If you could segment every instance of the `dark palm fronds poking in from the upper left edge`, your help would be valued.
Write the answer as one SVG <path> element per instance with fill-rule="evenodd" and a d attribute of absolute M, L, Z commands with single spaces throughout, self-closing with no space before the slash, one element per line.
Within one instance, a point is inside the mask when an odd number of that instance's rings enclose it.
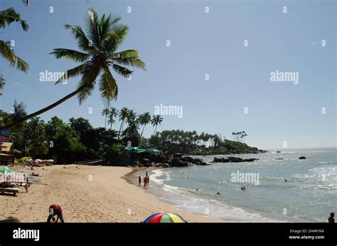
<path fill-rule="evenodd" d="M 14 22 L 19 22 L 23 31 L 28 31 L 28 23 L 21 19 L 20 14 L 16 13 L 14 8 L 8 8 L 0 11 L 0 28 L 6 28 Z M 9 61 L 9 64 L 12 67 L 16 65 L 18 70 L 21 70 L 24 73 L 28 72 L 28 63 L 16 56 L 13 48 L 11 47 L 11 42 L 0 39 L 0 54 L 3 58 Z"/>

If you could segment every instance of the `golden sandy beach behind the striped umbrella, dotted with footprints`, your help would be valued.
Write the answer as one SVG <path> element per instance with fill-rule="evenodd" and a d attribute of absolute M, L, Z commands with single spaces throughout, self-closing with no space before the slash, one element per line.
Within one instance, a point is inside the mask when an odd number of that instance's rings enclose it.
<path fill-rule="evenodd" d="M 139 223 L 152 213 L 179 213 L 188 222 L 221 222 L 202 215 L 186 213 L 163 203 L 122 178 L 132 169 L 114 166 L 63 165 L 35 167 L 41 183 L 33 183 L 28 193 L 0 195 L 0 222 L 46 222 L 48 208 L 59 204 L 65 222 Z M 11 167 L 26 171 L 26 167 Z M 151 188 L 150 186 L 147 188 Z"/>

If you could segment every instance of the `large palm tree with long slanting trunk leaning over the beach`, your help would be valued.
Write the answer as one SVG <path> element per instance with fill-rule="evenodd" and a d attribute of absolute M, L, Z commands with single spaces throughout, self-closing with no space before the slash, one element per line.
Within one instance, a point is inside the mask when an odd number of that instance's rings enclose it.
<path fill-rule="evenodd" d="M 73 33 L 81 51 L 70 50 L 68 48 L 55 48 L 51 54 L 55 55 L 56 58 L 65 58 L 82 63 L 68 70 L 67 73 L 58 80 L 58 82 L 61 82 L 65 80 L 66 77 L 70 78 L 80 75 L 81 78 L 77 84 L 77 89 L 57 102 L 54 102 L 52 105 L 38 110 L 33 114 L 28 114 L 17 122 L 0 127 L 0 129 L 12 127 L 27 119 L 36 117 L 36 115 L 53 109 L 53 107 L 60 105 L 75 95 L 77 95 L 81 105 L 82 102 L 91 95 L 98 77 L 100 77 L 99 90 L 101 96 L 107 100 L 117 100 L 117 82 L 109 68 L 112 68 L 115 73 L 123 77 L 129 77 L 133 72 L 125 68 L 124 65 L 145 70 L 145 63 L 140 59 L 137 50 L 117 51 L 129 31 L 127 26 L 118 23 L 119 20 L 120 18 L 112 18 L 111 14 L 109 16 L 103 14 L 103 16 L 99 18 L 97 13 L 93 9 L 90 9 L 85 18 L 85 31 L 83 31 L 80 26 L 65 25 L 65 28 L 70 29 Z M 56 84 L 58 84 L 58 82 L 56 82 Z"/>

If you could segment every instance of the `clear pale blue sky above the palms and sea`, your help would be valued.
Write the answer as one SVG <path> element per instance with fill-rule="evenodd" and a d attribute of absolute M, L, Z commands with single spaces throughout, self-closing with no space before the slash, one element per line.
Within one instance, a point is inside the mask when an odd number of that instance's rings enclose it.
<path fill-rule="evenodd" d="M 80 77 L 54 85 L 41 82 L 40 73 L 78 65 L 48 53 L 53 48 L 78 50 L 64 25 L 84 26 L 87 10 L 93 8 L 100 16 L 122 18 L 129 34 L 120 50 L 138 50 L 147 68 L 132 69 L 132 80 L 114 74 L 119 95 L 112 107 L 138 114 L 154 114 L 161 104 L 182 107 L 181 117 L 163 115 L 157 130 L 196 130 L 227 139 L 245 131 L 246 143 L 260 149 L 336 146 L 336 1 L 0 2 L 0 9 L 11 6 L 30 29 L 24 32 L 13 23 L 1 30 L 0 38 L 15 41 L 16 54 L 30 70 L 22 73 L 0 58 L 6 79 L 0 109 L 6 112 L 14 100 L 31 113 L 75 90 Z M 271 81 L 277 70 L 299 80 Z M 73 97 L 41 119 L 84 117 L 104 127 L 104 108 L 95 89 L 82 105 Z M 144 137 L 153 131 L 146 126 Z"/>

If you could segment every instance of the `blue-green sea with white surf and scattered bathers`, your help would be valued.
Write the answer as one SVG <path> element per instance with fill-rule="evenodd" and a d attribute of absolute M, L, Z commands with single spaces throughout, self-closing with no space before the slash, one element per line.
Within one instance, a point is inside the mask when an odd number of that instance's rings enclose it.
<path fill-rule="evenodd" d="M 260 159 L 254 162 L 156 169 L 148 192 L 226 222 L 326 222 L 337 212 L 337 148 L 276 151 L 217 156 Z M 198 157 L 209 163 L 215 156 Z"/>

